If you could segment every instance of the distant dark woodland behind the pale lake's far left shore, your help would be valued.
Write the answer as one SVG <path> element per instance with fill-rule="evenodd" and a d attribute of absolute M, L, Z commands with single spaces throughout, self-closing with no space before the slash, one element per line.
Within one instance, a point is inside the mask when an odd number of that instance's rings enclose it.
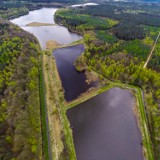
<path fill-rule="evenodd" d="M 28 14 L 29 11 L 43 7 L 63 7 L 72 3 L 80 3 L 73 0 L 2 0 L 0 1 L 0 17 L 13 19 Z"/>

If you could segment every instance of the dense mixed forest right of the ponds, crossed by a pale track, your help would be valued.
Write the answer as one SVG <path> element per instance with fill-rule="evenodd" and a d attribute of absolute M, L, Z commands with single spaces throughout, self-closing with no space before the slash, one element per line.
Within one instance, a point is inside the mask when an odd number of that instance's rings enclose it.
<path fill-rule="evenodd" d="M 154 5 L 107 2 L 59 10 L 55 18 L 57 23 L 84 35 L 82 60 L 88 70 L 143 90 L 156 160 L 160 159 L 160 40 L 147 68 L 143 66 L 160 31 L 158 15 Z"/>

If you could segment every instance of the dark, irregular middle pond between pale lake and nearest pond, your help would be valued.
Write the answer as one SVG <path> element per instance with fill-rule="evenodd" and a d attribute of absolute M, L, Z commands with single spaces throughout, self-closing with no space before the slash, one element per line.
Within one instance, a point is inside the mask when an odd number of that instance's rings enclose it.
<path fill-rule="evenodd" d="M 65 90 L 65 99 L 71 101 L 87 91 L 95 83 L 87 84 L 84 73 L 76 71 L 74 61 L 84 51 L 82 44 L 54 50 L 53 55 Z"/>

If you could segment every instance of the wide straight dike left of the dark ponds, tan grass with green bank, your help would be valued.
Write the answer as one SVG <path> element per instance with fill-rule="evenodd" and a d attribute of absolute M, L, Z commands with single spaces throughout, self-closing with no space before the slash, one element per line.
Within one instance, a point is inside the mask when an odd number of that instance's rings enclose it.
<path fill-rule="evenodd" d="M 43 74 L 52 159 L 76 159 L 72 133 L 66 117 L 64 92 L 55 60 L 50 54 L 43 54 Z"/>

